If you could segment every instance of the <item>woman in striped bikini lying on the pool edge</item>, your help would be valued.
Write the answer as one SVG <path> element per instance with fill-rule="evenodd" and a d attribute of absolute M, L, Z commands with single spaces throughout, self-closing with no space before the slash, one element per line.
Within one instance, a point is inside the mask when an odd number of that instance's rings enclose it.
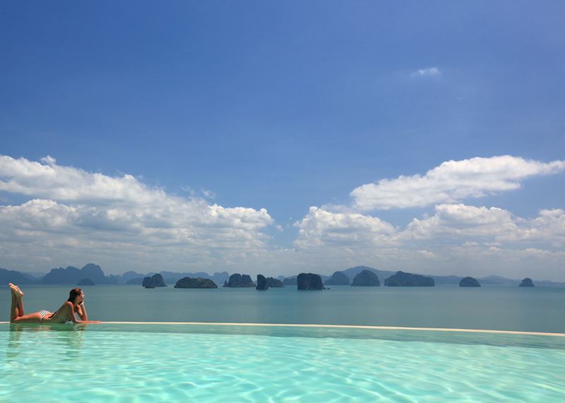
<path fill-rule="evenodd" d="M 100 321 L 97 320 L 88 320 L 84 306 L 84 293 L 80 288 L 71 289 L 69 299 L 54 313 L 39 311 L 25 315 L 22 302 L 23 292 L 17 285 L 12 283 L 8 285 L 12 291 L 11 323 L 100 323 Z M 77 320 L 75 313 L 81 320 Z"/>

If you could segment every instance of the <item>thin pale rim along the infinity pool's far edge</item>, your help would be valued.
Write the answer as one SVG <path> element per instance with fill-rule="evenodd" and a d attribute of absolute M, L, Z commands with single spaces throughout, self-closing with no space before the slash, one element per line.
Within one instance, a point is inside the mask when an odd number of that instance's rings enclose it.
<path fill-rule="evenodd" d="M 10 322 L 0 322 L 0 325 Z M 45 323 L 44 323 L 45 324 Z M 552 336 L 565 337 L 565 333 L 557 332 L 528 332 L 522 330 L 491 330 L 491 329 L 453 329 L 448 327 L 405 327 L 405 326 L 372 326 L 372 325 L 316 325 L 314 323 L 230 323 L 230 322 L 102 322 L 102 325 L 207 325 L 207 326 L 251 326 L 251 327 L 323 327 L 330 329 L 365 329 L 365 330 L 408 330 L 423 332 L 463 332 L 489 333 L 498 335 Z"/>

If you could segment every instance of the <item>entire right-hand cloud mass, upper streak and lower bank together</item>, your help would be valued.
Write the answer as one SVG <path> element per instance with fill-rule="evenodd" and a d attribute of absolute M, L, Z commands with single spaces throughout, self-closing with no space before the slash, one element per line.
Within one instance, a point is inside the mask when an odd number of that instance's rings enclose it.
<path fill-rule="evenodd" d="M 295 223 L 295 246 L 299 255 L 333 267 L 364 262 L 430 274 L 523 273 L 565 280 L 559 260 L 565 247 L 564 210 L 518 217 L 500 207 L 460 203 L 518 189 L 525 179 L 564 169 L 564 161 L 504 155 L 448 161 L 423 175 L 383 179 L 352 191 L 350 205 L 310 207 Z M 434 205 L 432 214 L 415 217 L 403 228 L 369 214 L 427 205 Z M 539 272 L 532 271 L 534 266 Z"/>

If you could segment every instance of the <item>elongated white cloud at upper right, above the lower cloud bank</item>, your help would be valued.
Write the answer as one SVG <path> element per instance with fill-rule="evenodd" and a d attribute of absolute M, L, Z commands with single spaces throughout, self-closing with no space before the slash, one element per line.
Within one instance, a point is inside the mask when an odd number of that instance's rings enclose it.
<path fill-rule="evenodd" d="M 350 196 L 353 207 L 362 211 L 457 203 L 465 198 L 518 189 L 524 179 L 556 174 L 564 169 L 565 161 L 546 163 L 511 155 L 451 160 L 424 175 L 398 176 L 364 184 L 355 188 Z"/>

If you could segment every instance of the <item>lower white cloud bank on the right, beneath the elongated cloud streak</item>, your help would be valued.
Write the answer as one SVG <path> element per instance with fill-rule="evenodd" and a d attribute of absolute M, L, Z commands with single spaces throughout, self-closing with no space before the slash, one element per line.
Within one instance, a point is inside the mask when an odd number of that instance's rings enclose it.
<path fill-rule="evenodd" d="M 310 207 L 295 223 L 303 260 L 335 270 L 361 263 L 436 275 L 506 275 L 565 281 L 565 211 L 533 219 L 499 207 L 438 205 L 398 229 L 379 217 Z"/>

